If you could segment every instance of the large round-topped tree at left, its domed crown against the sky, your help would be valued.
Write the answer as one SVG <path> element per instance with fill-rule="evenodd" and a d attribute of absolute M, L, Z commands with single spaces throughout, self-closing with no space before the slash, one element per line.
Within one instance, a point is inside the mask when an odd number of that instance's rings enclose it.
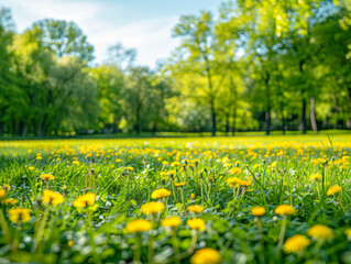
<path fill-rule="evenodd" d="M 57 132 L 67 120 L 64 116 L 67 113 L 91 113 L 89 117 L 92 119 L 96 116 L 96 99 L 86 97 L 87 94 L 95 94 L 95 86 L 84 72 L 88 59 L 91 59 L 92 50 L 84 40 L 80 30 L 74 24 L 53 20 L 36 22 L 17 36 L 13 69 L 21 80 L 26 101 L 21 121 L 23 135 L 29 128 L 39 136 L 51 129 Z M 87 100 L 91 102 L 90 106 L 86 103 Z M 87 125 L 81 117 L 79 121 L 73 122 L 77 125 L 64 127 L 81 129 Z"/>

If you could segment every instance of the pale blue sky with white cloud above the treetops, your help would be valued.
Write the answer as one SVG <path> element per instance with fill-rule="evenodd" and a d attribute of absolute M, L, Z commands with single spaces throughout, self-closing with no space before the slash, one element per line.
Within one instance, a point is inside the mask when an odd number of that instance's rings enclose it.
<path fill-rule="evenodd" d="M 107 59 L 109 46 L 121 42 L 136 48 L 136 63 L 154 67 L 179 44 L 172 29 L 182 14 L 217 12 L 222 0 L 1 0 L 11 9 L 18 32 L 35 21 L 74 21 L 95 47 L 96 63 Z"/>

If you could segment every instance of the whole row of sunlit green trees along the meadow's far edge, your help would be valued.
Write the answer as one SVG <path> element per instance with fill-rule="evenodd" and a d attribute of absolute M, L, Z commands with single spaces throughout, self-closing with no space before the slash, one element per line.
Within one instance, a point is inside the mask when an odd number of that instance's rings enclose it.
<path fill-rule="evenodd" d="M 351 7 L 238 0 L 180 16 L 155 69 L 117 44 L 94 64 L 74 22 L 15 32 L 0 9 L 0 134 L 351 128 Z"/>

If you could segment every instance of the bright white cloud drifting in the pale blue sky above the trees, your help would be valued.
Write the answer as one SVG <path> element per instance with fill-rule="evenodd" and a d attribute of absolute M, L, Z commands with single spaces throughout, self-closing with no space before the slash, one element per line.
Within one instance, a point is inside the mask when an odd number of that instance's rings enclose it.
<path fill-rule="evenodd" d="M 102 62 L 107 48 L 117 42 L 138 50 L 138 63 L 154 66 L 157 58 L 165 58 L 178 43 L 171 37 L 177 16 L 158 16 L 146 21 L 118 23 L 109 15 L 123 12 L 122 7 L 101 1 L 68 0 L 2 0 L 12 9 L 20 31 L 34 21 L 45 18 L 75 21 L 95 46 L 97 62 Z M 162 14 L 161 14 L 162 15 Z"/>

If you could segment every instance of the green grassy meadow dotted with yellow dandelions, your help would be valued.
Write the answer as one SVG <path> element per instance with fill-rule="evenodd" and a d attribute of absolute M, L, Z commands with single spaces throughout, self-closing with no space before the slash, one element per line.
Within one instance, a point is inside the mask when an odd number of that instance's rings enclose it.
<path fill-rule="evenodd" d="M 0 263 L 351 263 L 351 135 L 0 141 Z"/>

